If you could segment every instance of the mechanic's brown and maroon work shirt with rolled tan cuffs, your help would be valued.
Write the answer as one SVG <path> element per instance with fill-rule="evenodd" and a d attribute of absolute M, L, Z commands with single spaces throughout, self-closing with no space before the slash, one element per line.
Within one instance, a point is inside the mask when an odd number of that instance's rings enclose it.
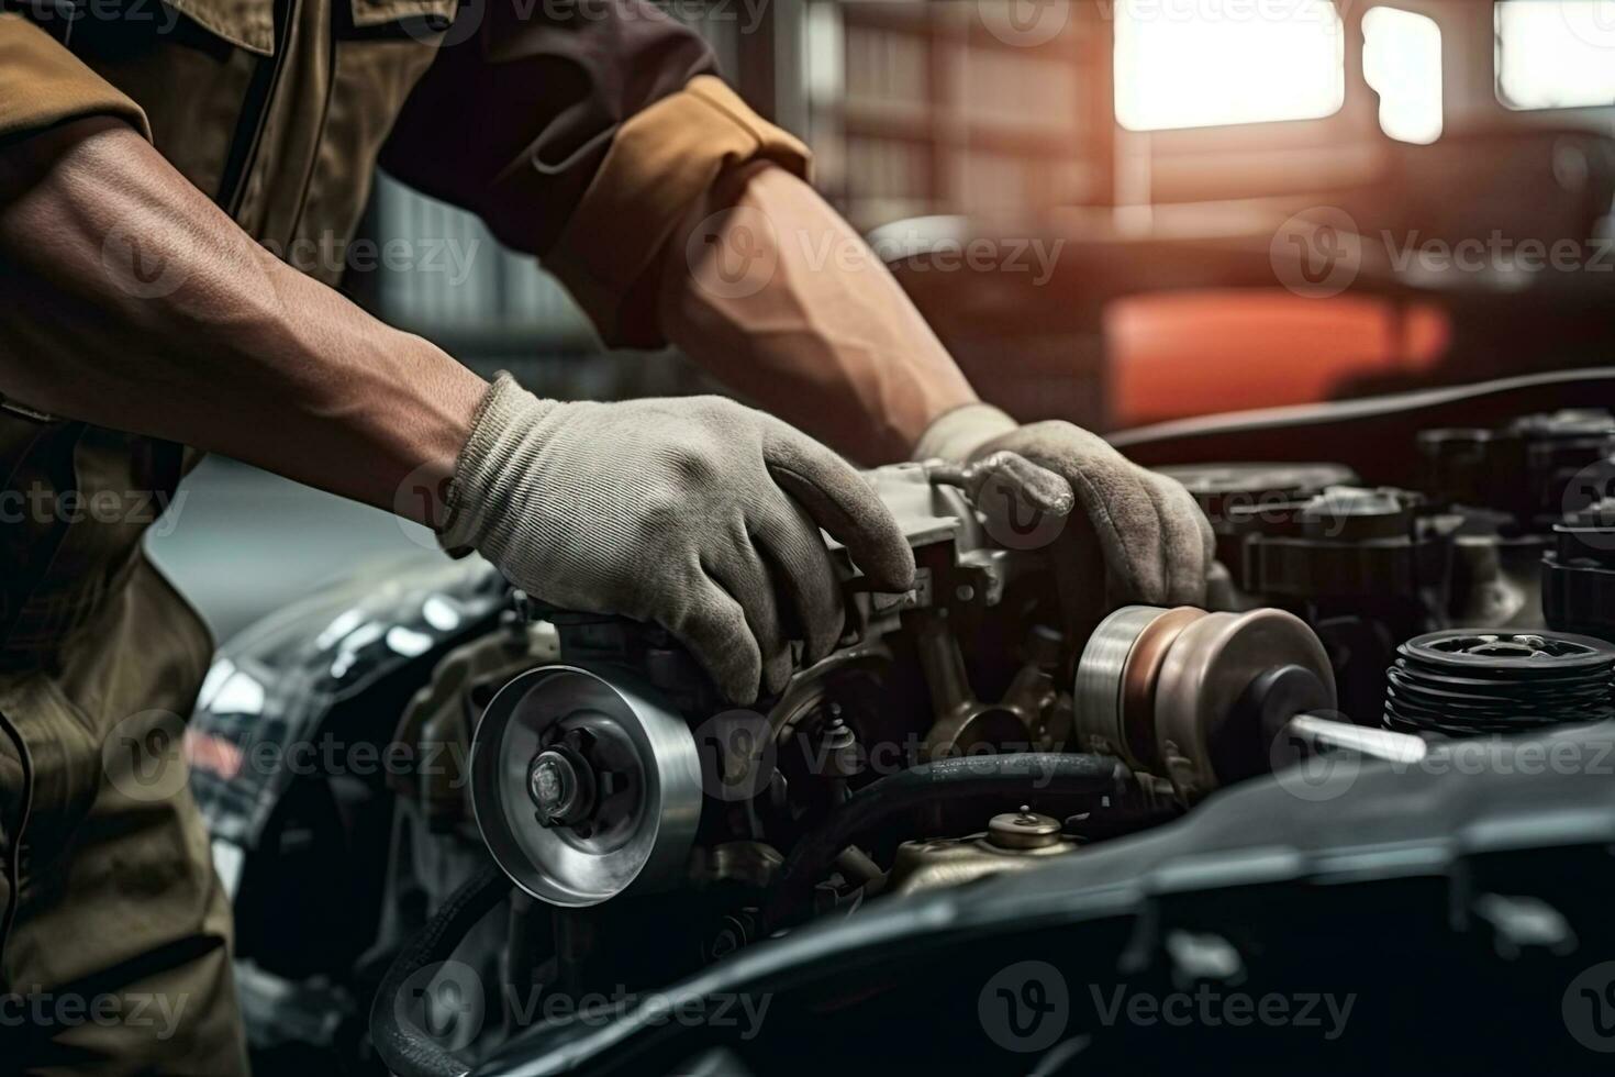
<path fill-rule="evenodd" d="M 706 44 L 641 0 L 15 3 L 0 145 L 121 116 L 249 234 L 326 278 L 342 258 L 297 254 L 346 247 L 380 163 L 538 255 L 610 344 L 661 342 L 648 266 L 720 170 L 806 170 L 801 144 L 714 76 Z M 137 491 L 150 509 L 184 463 L 174 446 L 0 410 L 13 504 Z M 48 654 L 102 607 L 152 513 L 11 515 L 0 665 Z"/>

